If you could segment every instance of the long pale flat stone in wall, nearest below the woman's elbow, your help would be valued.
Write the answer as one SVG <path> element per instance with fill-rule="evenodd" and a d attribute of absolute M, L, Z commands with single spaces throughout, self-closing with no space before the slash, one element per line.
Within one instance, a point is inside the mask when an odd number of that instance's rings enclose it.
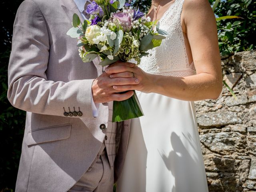
<path fill-rule="evenodd" d="M 206 127 L 238 124 L 241 123 L 242 120 L 237 116 L 236 112 L 218 111 L 198 114 L 197 122 L 199 126 Z"/>

